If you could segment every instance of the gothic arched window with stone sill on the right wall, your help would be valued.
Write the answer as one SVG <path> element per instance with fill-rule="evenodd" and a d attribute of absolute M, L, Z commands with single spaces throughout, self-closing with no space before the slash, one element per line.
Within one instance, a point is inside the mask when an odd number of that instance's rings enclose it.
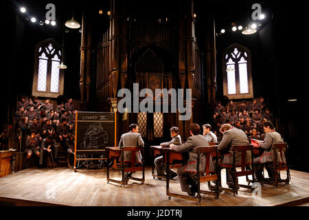
<path fill-rule="evenodd" d="M 223 94 L 229 99 L 253 98 L 251 53 L 242 45 L 233 44 L 222 57 Z"/>

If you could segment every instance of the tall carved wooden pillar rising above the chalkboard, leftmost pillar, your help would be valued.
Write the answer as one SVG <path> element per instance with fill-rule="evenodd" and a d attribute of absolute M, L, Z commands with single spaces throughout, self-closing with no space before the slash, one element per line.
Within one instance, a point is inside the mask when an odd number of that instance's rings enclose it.
<path fill-rule="evenodd" d="M 82 42 L 80 46 L 80 95 L 82 102 L 89 101 L 91 74 L 92 25 L 89 24 L 87 9 L 82 12 Z"/>

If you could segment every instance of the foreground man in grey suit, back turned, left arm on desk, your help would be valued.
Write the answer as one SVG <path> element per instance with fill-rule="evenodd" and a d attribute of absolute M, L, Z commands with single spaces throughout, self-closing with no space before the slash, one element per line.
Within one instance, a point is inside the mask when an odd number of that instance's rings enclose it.
<path fill-rule="evenodd" d="M 179 168 L 177 170 L 177 175 L 179 178 L 179 182 L 181 184 L 181 190 L 183 192 L 187 192 L 187 195 L 195 196 L 197 192 L 197 184 L 196 181 L 198 177 L 196 175 L 196 163 L 198 158 L 198 148 L 197 146 L 209 146 L 206 137 L 200 135 L 201 127 L 198 124 L 191 124 L 190 126 L 190 134 L 192 135 L 187 139 L 185 144 L 174 145 L 170 144 L 170 148 L 173 148 L 177 152 L 188 152 L 189 160 L 185 166 Z M 206 157 L 205 153 L 200 155 L 200 172 L 205 172 L 205 163 Z M 209 160 L 209 170 L 214 170 L 214 164 L 212 163 L 212 159 Z"/>

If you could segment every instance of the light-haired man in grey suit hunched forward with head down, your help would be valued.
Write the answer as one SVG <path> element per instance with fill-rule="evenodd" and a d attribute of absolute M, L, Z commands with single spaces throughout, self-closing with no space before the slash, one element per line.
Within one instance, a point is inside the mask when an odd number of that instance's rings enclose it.
<path fill-rule="evenodd" d="M 227 182 L 233 182 L 231 177 L 231 166 L 233 165 L 233 148 L 231 146 L 247 145 L 249 144 L 248 137 L 244 131 L 231 126 L 231 124 L 222 124 L 220 132 L 223 133 L 222 140 L 218 145 L 218 150 L 222 151 L 220 159 L 221 168 L 227 169 Z M 246 152 L 246 164 L 251 163 L 251 152 Z M 236 166 L 241 164 L 241 153 L 236 152 Z M 237 181 L 237 179 L 236 179 Z M 237 183 L 237 182 L 236 182 Z M 233 186 L 229 186 L 233 187 Z"/>

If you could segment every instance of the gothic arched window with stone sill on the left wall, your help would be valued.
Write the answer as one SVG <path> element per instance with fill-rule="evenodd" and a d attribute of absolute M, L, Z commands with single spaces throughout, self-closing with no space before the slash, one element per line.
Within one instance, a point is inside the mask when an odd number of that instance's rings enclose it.
<path fill-rule="evenodd" d="M 36 45 L 32 96 L 57 98 L 63 95 L 63 70 L 58 68 L 61 58 L 60 45 L 53 39 Z"/>

